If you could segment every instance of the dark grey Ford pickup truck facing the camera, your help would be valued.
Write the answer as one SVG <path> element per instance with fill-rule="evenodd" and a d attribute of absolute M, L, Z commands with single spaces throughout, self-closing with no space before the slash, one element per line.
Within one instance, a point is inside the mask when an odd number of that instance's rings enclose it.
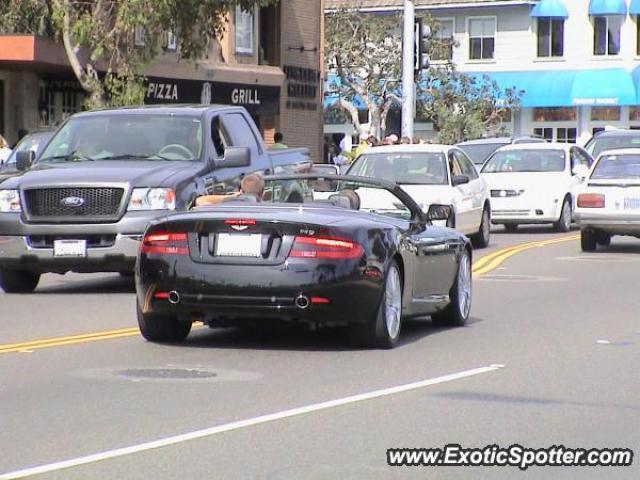
<path fill-rule="evenodd" d="M 139 107 L 69 118 L 0 185 L 0 287 L 31 292 L 47 272 L 133 271 L 149 221 L 243 175 L 310 167 L 307 149 L 268 151 L 246 110 Z M 300 195 L 291 191 L 291 201 Z"/>

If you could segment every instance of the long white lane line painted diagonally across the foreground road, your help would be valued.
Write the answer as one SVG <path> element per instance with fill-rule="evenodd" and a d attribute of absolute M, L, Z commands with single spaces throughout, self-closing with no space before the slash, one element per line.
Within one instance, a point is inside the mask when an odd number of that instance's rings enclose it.
<path fill-rule="evenodd" d="M 283 410 L 281 412 L 271 413 L 268 415 L 262 415 L 259 417 L 248 418 L 246 420 L 239 420 L 237 422 L 225 423 L 217 425 L 215 427 L 205 428 L 203 430 L 196 430 L 193 432 L 183 433 L 181 435 L 175 435 L 172 437 L 166 437 L 151 442 L 140 443 L 138 445 L 131 445 L 129 447 L 117 448 L 115 450 L 108 450 L 102 453 L 95 453 L 93 455 L 87 455 L 84 457 L 73 458 L 69 460 L 63 460 L 61 462 L 49 463 L 46 465 L 40 465 L 37 467 L 25 468 L 23 470 L 16 470 L 14 472 L 8 472 L 0 475 L 0 480 L 9 480 L 16 478 L 25 478 L 32 475 L 38 475 L 41 473 L 49 473 L 65 468 L 77 467 L 80 465 L 87 465 L 90 463 L 100 462 L 111 458 L 124 457 L 134 453 L 140 453 L 156 448 L 167 447 L 169 445 L 176 445 L 178 443 L 188 442 L 199 438 L 211 437 L 220 433 L 230 432 L 233 430 L 239 430 L 241 428 L 252 427 L 263 423 L 274 422 L 276 420 L 283 420 L 285 418 L 296 417 L 299 415 L 305 415 L 308 413 L 319 412 L 321 410 L 327 410 L 330 408 L 340 407 L 351 403 L 362 402 L 365 400 L 373 400 L 375 398 L 386 397 L 389 395 L 395 395 L 397 393 L 408 392 L 411 390 L 417 390 L 424 387 L 430 387 L 432 385 L 439 385 L 442 383 L 453 382 L 455 380 L 461 380 L 463 378 L 473 377 L 476 375 L 482 375 L 484 373 L 490 373 L 496 370 L 504 368 L 501 364 L 492 364 L 487 367 L 473 368 L 471 370 L 464 370 L 462 372 L 452 373 L 444 375 L 442 377 L 430 378 L 427 380 L 421 380 L 418 382 L 407 383 L 404 385 L 398 385 L 396 387 L 383 388 L 381 390 L 374 390 L 372 392 L 360 393 L 357 395 L 351 395 L 349 397 L 338 398 L 335 400 L 329 400 L 326 402 L 314 403 L 306 405 L 304 407 L 292 408 L 290 410 Z"/>

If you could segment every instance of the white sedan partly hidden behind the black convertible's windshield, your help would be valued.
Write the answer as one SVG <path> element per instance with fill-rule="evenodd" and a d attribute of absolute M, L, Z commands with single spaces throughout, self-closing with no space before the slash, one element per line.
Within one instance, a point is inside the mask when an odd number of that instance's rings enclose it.
<path fill-rule="evenodd" d="M 453 213 L 448 226 L 469 235 L 476 247 L 489 244 L 489 190 L 458 147 L 437 144 L 373 147 L 354 161 L 347 174 L 396 182 L 425 212 L 434 203 L 450 205 Z"/>

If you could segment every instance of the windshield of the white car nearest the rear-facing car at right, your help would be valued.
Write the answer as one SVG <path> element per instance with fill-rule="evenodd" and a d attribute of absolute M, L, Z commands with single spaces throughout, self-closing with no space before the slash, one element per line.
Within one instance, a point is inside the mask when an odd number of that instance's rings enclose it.
<path fill-rule="evenodd" d="M 564 169 L 562 150 L 504 150 L 487 160 L 482 173 L 562 172 Z"/>

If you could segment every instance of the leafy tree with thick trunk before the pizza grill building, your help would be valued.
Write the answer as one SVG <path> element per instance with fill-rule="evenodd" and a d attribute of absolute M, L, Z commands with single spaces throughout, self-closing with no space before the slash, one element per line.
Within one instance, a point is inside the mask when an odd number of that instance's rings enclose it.
<path fill-rule="evenodd" d="M 0 28 L 67 39 L 89 106 L 127 105 L 144 99 L 141 73 L 162 51 L 166 32 L 176 35 L 180 58 L 202 58 L 236 5 L 252 9 L 277 1 L 0 0 Z M 136 28 L 144 30 L 144 46 L 134 44 Z"/>

